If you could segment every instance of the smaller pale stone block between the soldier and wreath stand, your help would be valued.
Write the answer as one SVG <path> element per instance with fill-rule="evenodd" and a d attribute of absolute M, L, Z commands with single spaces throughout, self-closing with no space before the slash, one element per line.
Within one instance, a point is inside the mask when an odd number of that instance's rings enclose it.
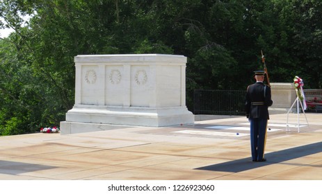
<path fill-rule="evenodd" d="M 274 103 L 269 107 L 270 113 L 287 113 L 296 100 L 293 83 L 271 83 L 271 91 Z"/>

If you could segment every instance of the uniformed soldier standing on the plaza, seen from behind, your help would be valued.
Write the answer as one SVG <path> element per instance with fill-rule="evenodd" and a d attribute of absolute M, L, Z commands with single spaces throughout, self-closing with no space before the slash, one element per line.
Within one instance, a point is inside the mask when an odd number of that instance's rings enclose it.
<path fill-rule="evenodd" d="M 266 161 L 264 158 L 268 107 L 273 105 L 271 87 L 264 85 L 265 71 L 254 71 L 256 83 L 247 87 L 245 110 L 250 121 L 250 147 L 252 161 Z"/>

